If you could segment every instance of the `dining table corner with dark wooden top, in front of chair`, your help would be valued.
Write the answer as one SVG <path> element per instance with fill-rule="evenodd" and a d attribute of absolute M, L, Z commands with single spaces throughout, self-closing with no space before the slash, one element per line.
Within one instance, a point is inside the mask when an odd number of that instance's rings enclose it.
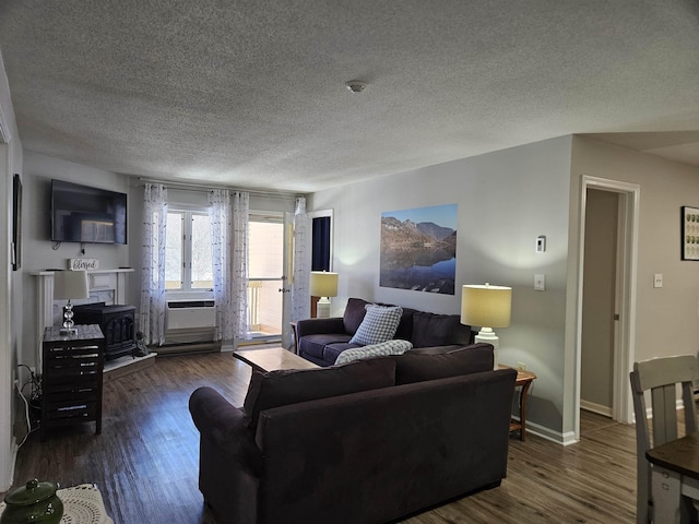
<path fill-rule="evenodd" d="M 699 502 L 699 432 L 652 448 L 645 457 L 653 465 L 653 522 L 689 523 Z"/>

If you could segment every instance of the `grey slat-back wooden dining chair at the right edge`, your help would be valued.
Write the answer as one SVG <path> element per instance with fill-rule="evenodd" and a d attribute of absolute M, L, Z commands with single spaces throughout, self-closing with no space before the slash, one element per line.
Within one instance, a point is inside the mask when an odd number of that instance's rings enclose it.
<path fill-rule="evenodd" d="M 651 464 L 645 452 L 651 446 L 677 439 L 677 384 L 682 384 L 685 434 L 697 430 L 692 382 L 699 379 L 699 361 L 694 355 L 659 357 L 633 364 L 630 373 L 636 415 L 637 503 L 636 522 L 652 522 Z M 644 392 L 651 396 L 652 440 L 649 434 Z M 657 523 L 660 524 L 660 523 Z"/>

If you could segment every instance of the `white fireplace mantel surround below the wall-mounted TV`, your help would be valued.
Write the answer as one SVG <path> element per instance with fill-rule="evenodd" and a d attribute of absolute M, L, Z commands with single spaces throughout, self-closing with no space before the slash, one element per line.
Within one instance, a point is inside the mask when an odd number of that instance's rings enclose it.
<path fill-rule="evenodd" d="M 125 303 L 127 298 L 127 276 L 133 269 L 123 267 L 118 270 L 90 270 L 87 271 L 87 283 L 91 295 L 99 295 L 98 301 L 107 305 Z M 38 355 L 42 355 L 42 340 L 44 329 L 54 325 L 54 272 L 40 271 L 34 273 L 38 278 L 37 300 L 36 300 L 36 340 L 38 342 Z M 106 299 L 102 299 L 102 294 L 107 294 Z M 94 302 L 94 299 L 74 300 L 75 305 Z"/>

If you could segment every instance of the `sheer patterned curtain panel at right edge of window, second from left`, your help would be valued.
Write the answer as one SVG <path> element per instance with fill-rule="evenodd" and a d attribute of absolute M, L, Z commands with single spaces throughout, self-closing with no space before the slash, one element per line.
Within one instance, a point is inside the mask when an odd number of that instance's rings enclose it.
<path fill-rule="evenodd" d="M 233 217 L 230 193 L 216 189 L 209 193 L 209 216 L 211 218 L 211 243 L 214 273 L 214 301 L 216 303 L 215 340 L 233 341 L 234 279 L 233 279 Z"/>

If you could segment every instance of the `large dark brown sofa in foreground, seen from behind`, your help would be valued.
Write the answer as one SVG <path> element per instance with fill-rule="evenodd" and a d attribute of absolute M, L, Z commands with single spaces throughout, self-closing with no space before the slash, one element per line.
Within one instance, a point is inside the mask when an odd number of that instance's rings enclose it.
<path fill-rule="evenodd" d="M 517 372 L 471 372 L 491 349 L 256 372 L 245 408 L 198 389 L 205 502 L 218 524 L 384 523 L 499 486 Z"/>

